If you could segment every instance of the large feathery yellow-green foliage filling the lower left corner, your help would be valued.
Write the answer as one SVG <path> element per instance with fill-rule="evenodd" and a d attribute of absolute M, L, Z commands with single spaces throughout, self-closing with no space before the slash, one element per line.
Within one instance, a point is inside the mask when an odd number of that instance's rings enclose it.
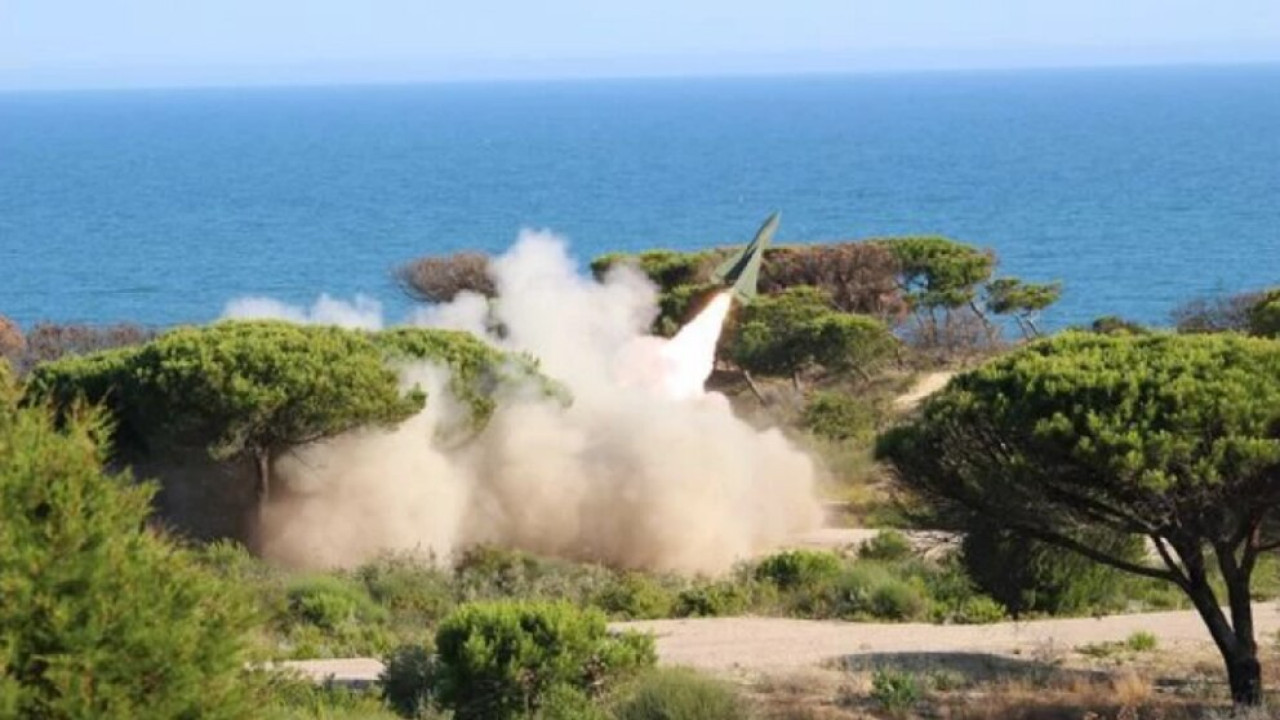
<path fill-rule="evenodd" d="M 0 710 L 246 717 L 241 591 L 146 529 L 154 492 L 101 469 L 104 423 L 0 407 Z"/>

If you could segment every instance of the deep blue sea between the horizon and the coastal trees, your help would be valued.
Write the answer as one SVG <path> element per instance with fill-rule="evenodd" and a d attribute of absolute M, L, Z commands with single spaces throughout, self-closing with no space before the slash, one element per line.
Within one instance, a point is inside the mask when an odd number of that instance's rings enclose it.
<path fill-rule="evenodd" d="M 943 233 L 1050 324 L 1280 283 L 1280 67 L 0 95 L 0 314 L 202 322 L 522 227 L 611 250 Z"/>

